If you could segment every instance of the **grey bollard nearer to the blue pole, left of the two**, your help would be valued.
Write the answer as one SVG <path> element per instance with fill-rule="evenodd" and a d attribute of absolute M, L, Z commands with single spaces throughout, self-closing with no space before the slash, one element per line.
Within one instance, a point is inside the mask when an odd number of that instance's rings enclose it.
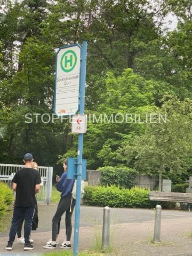
<path fill-rule="evenodd" d="M 103 208 L 103 227 L 102 227 L 102 247 L 109 247 L 110 238 L 110 208 L 105 206 Z"/>

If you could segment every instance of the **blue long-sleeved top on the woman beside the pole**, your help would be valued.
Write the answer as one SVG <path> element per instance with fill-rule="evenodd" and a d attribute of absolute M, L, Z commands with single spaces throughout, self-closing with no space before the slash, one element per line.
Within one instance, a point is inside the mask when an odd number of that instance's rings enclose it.
<path fill-rule="evenodd" d="M 71 194 L 75 180 L 67 179 L 67 172 L 61 175 L 59 182 L 55 185 L 55 188 L 61 192 L 61 196 L 67 196 Z"/>

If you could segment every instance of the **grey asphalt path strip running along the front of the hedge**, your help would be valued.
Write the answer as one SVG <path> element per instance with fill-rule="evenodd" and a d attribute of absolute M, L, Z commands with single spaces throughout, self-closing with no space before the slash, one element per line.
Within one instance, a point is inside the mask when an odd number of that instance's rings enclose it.
<path fill-rule="evenodd" d="M 39 225 L 36 232 L 50 231 L 52 229 L 52 218 L 57 209 L 57 204 L 38 205 Z M 9 214 L 11 223 L 11 214 Z M 81 227 L 94 227 L 102 225 L 103 207 L 81 206 L 80 216 Z M 179 210 L 162 210 L 162 219 L 178 219 L 192 217 L 192 212 Z M 73 226 L 75 210 L 73 213 Z M 110 208 L 111 224 L 118 223 L 143 223 L 155 220 L 155 210 L 153 209 L 130 209 L 130 208 Z M 65 215 L 62 217 L 61 228 L 65 228 Z M 9 229 L 0 234 L 0 237 L 7 236 Z"/>

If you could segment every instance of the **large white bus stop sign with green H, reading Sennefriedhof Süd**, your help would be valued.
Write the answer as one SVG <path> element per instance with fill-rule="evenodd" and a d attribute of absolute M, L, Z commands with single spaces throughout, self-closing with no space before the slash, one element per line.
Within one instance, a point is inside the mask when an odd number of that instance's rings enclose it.
<path fill-rule="evenodd" d="M 61 47 L 57 52 L 54 112 L 59 116 L 78 111 L 81 46 Z"/>

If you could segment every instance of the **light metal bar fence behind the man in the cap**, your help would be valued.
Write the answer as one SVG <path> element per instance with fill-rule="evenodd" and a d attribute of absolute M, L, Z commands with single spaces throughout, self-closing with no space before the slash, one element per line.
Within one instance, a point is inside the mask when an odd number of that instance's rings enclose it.
<path fill-rule="evenodd" d="M 10 188 L 12 188 L 12 179 L 14 173 L 17 172 L 23 165 L 18 164 L 0 164 L 0 181 L 5 182 Z M 38 166 L 38 171 L 41 175 L 41 187 L 39 193 L 36 195 L 38 203 L 51 203 L 51 191 L 52 191 L 52 178 L 53 167 Z"/>

